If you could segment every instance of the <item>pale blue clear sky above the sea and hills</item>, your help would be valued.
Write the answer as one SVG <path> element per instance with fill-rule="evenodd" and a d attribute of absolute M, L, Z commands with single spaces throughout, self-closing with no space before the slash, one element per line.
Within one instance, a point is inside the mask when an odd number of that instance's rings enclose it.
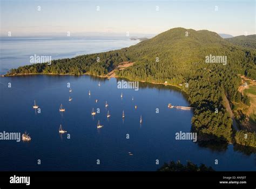
<path fill-rule="evenodd" d="M 0 35 L 149 36 L 171 28 L 255 34 L 255 1 L 0 0 Z"/>

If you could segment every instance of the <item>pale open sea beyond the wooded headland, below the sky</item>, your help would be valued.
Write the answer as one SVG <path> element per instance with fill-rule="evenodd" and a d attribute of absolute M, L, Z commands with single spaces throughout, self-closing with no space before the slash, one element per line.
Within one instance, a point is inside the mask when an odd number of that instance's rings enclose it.
<path fill-rule="evenodd" d="M 30 64 L 30 56 L 72 58 L 137 44 L 129 37 L 5 37 L 0 38 L 0 75 Z"/>

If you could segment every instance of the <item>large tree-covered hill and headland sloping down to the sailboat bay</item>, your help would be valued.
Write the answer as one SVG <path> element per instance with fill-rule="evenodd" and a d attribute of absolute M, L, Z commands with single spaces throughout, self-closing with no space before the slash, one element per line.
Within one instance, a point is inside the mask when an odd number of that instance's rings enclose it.
<path fill-rule="evenodd" d="M 239 74 L 256 78 L 255 55 L 255 48 L 234 45 L 215 32 L 174 28 L 129 48 L 53 60 L 51 65 L 27 65 L 10 70 L 6 76 L 25 73 L 103 76 L 122 62 L 134 62 L 133 66 L 116 71 L 116 76 L 183 84 L 182 90 L 196 107 L 192 129 L 199 132 L 200 139 L 232 141 L 232 121 L 223 105 L 223 96 L 228 100 L 239 96 L 241 102 L 248 104 L 248 98 L 237 91 L 241 82 Z M 226 57 L 227 61 L 214 63 L 211 59 L 207 63 L 206 57 L 212 56 Z M 255 133 L 250 136 L 252 140 L 244 145 L 256 147 Z"/>

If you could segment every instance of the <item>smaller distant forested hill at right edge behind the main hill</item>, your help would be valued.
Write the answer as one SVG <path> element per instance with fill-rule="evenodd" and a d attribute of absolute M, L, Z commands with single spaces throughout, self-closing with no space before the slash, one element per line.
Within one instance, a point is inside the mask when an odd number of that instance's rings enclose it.
<path fill-rule="evenodd" d="M 225 39 L 235 45 L 256 49 L 256 35 L 237 36 Z"/>

